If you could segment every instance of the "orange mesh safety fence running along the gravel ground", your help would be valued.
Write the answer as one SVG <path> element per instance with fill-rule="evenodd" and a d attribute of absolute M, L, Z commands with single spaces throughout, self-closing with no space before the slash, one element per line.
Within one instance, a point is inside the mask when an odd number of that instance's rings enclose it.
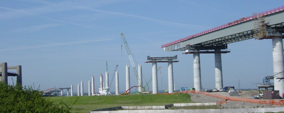
<path fill-rule="evenodd" d="M 200 92 L 200 91 L 187 91 L 189 93 L 200 93 L 204 94 L 210 97 L 215 97 L 219 99 L 224 100 L 230 100 L 230 101 L 240 101 L 240 102 L 250 102 L 250 103 L 256 103 L 256 104 L 273 104 L 273 105 L 284 105 L 284 100 L 264 100 L 264 99 L 249 99 L 249 98 L 241 98 L 241 97 L 227 97 L 220 94 L 213 94 L 213 93 L 207 93 L 207 92 Z M 183 92 L 185 93 L 185 91 Z M 226 101 L 220 101 L 217 102 L 217 104 L 225 103 Z"/>

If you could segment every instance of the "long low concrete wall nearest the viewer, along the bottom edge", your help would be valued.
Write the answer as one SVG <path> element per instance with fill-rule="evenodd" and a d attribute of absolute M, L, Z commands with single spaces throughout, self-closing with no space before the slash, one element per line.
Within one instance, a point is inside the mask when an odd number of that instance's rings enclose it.
<path fill-rule="evenodd" d="M 283 112 L 284 107 L 275 108 L 241 108 L 241 109 L 148 109 L 148 110 L 121 110 L 121 111 L 90 111 L 90 113 L 264 113 Z"/>

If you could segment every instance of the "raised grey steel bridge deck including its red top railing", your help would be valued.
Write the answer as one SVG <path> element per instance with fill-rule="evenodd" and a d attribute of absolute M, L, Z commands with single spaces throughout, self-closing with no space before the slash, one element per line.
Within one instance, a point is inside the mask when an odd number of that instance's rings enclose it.
<path fill-rule="evenodd" d="M 284 26 L 284 6 L 264 11 L 258 15 L 265 15 L 271 27 Z M 254 16 L 238 19 L 236 21 L 187 36 L 168 44 L 162 45 L 164 51 L 185 51 L 195 46 L 222 46 L 238 41 L 254 38 Z M 281 35 L 281 34 L 280 34 Z"/>

